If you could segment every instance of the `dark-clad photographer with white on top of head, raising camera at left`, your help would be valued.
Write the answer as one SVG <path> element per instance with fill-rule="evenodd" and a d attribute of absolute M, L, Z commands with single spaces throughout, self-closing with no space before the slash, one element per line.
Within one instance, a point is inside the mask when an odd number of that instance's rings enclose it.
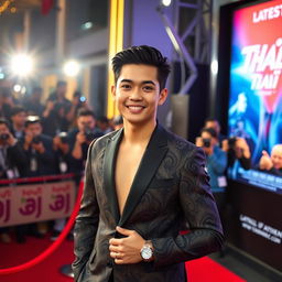
<path fill-rule="evenodd" d="M 29 160 L 26 176 L 52 175 L 57 173 L 52 138 L 42 134 L 41 120 L 29 116 L 25 122 L 22 148 Z"/>

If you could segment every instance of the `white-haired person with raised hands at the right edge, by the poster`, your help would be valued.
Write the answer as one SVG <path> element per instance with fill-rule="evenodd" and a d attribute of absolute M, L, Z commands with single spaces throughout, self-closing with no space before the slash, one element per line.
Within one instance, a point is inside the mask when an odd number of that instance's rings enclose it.
<path fill-rule="evenodd" d="M 274 145 L 270 155 L 267 151 L 262 151 L 259 170 L 282 176 L 282 144 Z"/>

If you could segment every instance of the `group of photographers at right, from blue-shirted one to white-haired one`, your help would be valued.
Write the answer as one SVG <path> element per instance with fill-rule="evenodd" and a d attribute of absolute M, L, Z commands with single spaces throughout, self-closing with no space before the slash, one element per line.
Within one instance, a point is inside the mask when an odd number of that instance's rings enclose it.
<path fill-rule="evenodd" d="M 237 164 L 243 170 L 254 169 L 282 176 L 282 144 L 274 145 L 271 152 L 262 151 L 259 163 L 254 164 L 251 161 L 248 140 L 242 137 L 227 138 L 223 135 L 220 124 L 214 118 L 206 119 L 195 143 L 197 147 L 202 147 L 206 153 L 209 184 L 224 225 L 228 170 Z"/>

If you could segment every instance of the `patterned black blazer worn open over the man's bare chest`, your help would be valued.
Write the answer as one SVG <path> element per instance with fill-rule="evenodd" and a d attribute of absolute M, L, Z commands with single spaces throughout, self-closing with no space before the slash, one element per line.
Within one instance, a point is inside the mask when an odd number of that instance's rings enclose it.
<path fill-rule="evenodd" d="M 221 224 L 202 149 L 156 126 L 130 188 L 122 215 L 115 187 L 123 130 L 91 143 L 85 191 L 75 224 L 75 281 L 183 282 L 184 262 L 218 250 Z M 124 172 L 126 173 L 126 172 Z M 109 239 L 116 226 L 152 240 L 153 262 L 115 264 Z M 183 226 L 189 231 L 180 235 Z"/>

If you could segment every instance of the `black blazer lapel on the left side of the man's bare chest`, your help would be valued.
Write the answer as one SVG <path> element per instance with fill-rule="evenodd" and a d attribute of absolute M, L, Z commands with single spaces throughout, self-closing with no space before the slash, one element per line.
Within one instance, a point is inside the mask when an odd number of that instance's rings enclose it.
<path fill-rule="evenodd" d="M 109 207 L 112 216 L 115 217 L 116 223 L 118 224 L 120 219 L 119 204 L 116 193 L 115 184 L 115 167 L 116 159 L 118 153 L 119 143 L 123 135 L 123 129 L 119 130 L 117 134 L 111 137 L 108 140 L 105 159 L 104 159 L 104 183 L 105 183 L 105 193 L 109 203 Z"/>

